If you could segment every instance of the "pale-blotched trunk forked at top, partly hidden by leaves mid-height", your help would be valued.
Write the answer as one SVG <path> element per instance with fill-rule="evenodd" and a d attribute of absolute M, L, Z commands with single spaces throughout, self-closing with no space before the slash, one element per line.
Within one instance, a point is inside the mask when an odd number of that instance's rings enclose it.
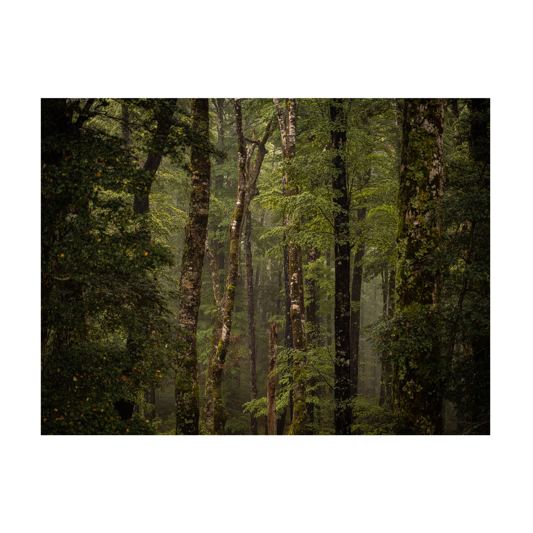
<path fill-rule="evenodd" d="M 283 183 L 286 196 L 298 194 L 298 189 L 290 181 L 290 163 L 296 153 L 296 100 L 285 101 L 285 114 L 279 107 L 277 98 L 273 99 L 281 132 L 284 157 Z M 305 315 L 303 305 L 302 248 L 294 238 L 296 228 L 288 233 L 290 320 L 293 330 L 293 419 L 289 434 L 305 434 Z"/>

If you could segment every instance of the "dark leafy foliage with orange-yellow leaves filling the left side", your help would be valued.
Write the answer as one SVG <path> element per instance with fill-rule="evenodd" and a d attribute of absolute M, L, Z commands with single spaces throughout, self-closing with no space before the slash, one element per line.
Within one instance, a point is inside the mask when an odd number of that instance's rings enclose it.
<path fill-rule="evenodd" d="M 174 264 L 171 221 L 134 216 L 133 195 L 151 177 L 102 127 L 109 110 L 106 101 L 88 110 L 43 100 L 43 433 L 153 433 L 144 420 L 121 421 L 113 404 L 142 405 L 142 391 L 182 350 L 169 306 L 175 285 L 160 281 Z"/>

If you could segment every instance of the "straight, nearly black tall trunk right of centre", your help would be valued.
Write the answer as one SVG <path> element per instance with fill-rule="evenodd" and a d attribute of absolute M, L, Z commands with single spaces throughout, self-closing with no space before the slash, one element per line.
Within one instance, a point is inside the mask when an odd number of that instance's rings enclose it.
<path fill-rule="evenodd" d="M 335 434 L 350 434 L 350 205 L 343 148 L 346 117 L 342 99 L 329 106 L 335 243 Z"/>

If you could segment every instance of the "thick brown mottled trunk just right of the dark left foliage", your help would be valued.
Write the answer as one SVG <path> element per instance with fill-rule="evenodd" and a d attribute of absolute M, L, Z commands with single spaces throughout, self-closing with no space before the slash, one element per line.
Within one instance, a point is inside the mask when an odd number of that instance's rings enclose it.
<path fill-rule="evenodd" d="M 209 102 L 206 98 L 191 99 L 192 126 L 209 137 Z M 209 215 L 209 182 L 211 159 L 191 147 L 191 195 L 189 216 L 181 257 L 179 323 L 184 330 L 187 352 L 176 360 L 175 399 L 176 435 L 197 435 L 199 429 L 199 384 L 196 329 L 200 308 L 201 273 L 204 264 L 203 246 Z"/>

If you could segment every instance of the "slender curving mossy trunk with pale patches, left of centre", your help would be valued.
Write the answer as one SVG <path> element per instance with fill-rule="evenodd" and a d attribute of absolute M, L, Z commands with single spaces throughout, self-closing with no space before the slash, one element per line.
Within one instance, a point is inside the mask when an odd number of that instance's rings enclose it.
<path fill-rule="evenodd" d="M 213 434 L 224 434 L 224 425 L 228 414 L 222 402 L 222 372 L 224 362 L 228 353 L 228 344 L 231 333 L 231 323 L 233 319 L 233 309 L 235 308 L 235 293 L 237 280 L 239 277 L 239 250 L 240 235 L 243 227 L 245 193 L 246 193 L 246 141 L 243 134 L 243 116 L 241 102 L 239 98 L 234 101 L 235 123 L 237 130 L 237 146 L 239 154 L 239 182 L 237 188 L 237 199 L 233 210 L 233 219 L 229 227 L 230 233 L 230 255 L 228 259 L 228 277 L 226 281 L 226 301 L 224 306 L 224 317 L 222 319 L 222 333 L 216 348 L 213 359 Z"/>

